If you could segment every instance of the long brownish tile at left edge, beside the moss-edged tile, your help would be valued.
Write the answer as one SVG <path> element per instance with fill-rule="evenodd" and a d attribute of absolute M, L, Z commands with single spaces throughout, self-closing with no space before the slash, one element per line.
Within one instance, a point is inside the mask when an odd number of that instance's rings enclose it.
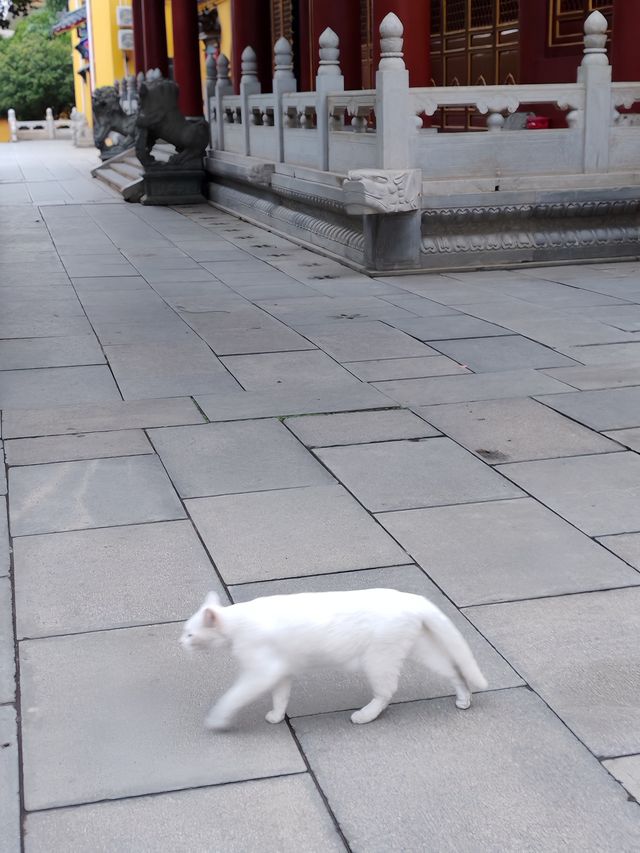
<path fill-rule="evenodd" d="M 100 432 L 137 427 L 198 424 L 204 420 L 189 397 L 125 400 L 101 406 L 59 406 L 3 413 L 5 438 Z"/>

